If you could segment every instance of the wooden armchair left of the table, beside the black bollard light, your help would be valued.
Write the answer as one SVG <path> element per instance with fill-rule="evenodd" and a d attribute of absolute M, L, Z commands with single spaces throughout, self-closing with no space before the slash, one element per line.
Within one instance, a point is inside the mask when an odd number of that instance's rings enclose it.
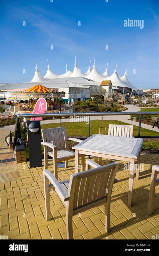
<path fill-rule="evenodd" d="M 65 168 L 68 167 L 68 160 L 75 158 L 75 153 L 68 149 L 68 140 L 81 142 L 81 139 L 67 138 L 66 128 L 42 129 L 44 145 L 44 168 L 48 167 L 48 155 L 53 158 L 54 175 L 57 179 L 57 163 L 65 161 Z M 85 155 L 82 157 L 82 171 L 85 169 Z"/>

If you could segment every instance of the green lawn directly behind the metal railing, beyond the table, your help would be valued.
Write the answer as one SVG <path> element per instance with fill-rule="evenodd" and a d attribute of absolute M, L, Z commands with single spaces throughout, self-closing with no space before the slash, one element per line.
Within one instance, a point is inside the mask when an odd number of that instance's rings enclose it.
<path fill-rule="evenodd" d="M 103 127 L 106 127 L 106 134 L 108 134 L 109 124 L 127 125 L 120 121 L 103 121 Z M 86 123 L 62 123 L 66 127 L 67 136 L 88 136 L 89 125 Z M 41 125 L 42 129 L 60 127 L 60 123 Z M 99 127 L 102 127 L 102 120 L 91 121 L 91 135 L 99 133 Z M 141 128 L 141 136 L 158 136 L 159 133 L 145 128 Z M 133 126 L 133 136 L 138 136 L 138 126 Z"/>

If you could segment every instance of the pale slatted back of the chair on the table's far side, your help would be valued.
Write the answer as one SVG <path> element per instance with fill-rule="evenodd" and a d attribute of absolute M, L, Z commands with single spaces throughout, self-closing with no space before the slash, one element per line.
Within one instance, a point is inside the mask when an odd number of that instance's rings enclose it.
<path fill-rule="evenodd" d="M 133 125 L 109 124 L 108 135 L 133 137 Z"/>

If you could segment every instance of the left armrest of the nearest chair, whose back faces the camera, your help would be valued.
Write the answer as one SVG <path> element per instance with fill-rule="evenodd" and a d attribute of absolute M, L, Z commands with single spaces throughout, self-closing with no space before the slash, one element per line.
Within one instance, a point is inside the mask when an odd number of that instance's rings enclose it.
<path fill-rule="evenodd" d="M 49 179 L 49 181 L 51 181 L 52 185 L 55 187 L 55 190 L 58 193 L 59 197 L 62 199 L 62 201 L 68 201 L 68 194 L 62 189 L 60 183 L 55 178 L 55 176 L 48 169 L 44 169 L 44 175 Z"/>

